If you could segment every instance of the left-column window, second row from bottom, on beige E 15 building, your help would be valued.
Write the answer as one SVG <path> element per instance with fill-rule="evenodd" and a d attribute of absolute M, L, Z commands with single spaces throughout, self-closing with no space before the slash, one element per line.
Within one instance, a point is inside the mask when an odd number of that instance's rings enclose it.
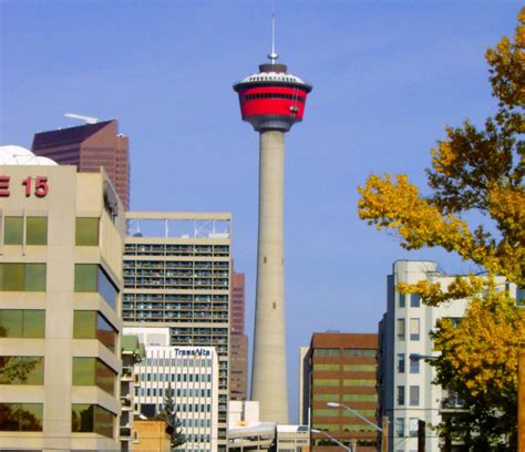
<path fill-rule="evenodd" d="M 0 357 L 0 384 L 43 384 L 43 357 Z"/>

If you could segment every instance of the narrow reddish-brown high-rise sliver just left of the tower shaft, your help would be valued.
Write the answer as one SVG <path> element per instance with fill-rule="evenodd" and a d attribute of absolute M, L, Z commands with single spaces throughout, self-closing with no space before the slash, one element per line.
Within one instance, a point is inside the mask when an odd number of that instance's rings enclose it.
<path fill-rule="evenodd" d="M 231 275 L 229 399 L 244 401 L 248 393 L 248 337 L 245 335 L 245 274 Z"/>

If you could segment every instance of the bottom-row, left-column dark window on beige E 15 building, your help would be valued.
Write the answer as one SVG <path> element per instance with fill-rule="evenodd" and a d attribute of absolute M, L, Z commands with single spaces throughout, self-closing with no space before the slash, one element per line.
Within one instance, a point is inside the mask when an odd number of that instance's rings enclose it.
<path fill-rule="evenodd" d="M 0 431 L 41 432 L 42 403 L 0 403 Z"/>

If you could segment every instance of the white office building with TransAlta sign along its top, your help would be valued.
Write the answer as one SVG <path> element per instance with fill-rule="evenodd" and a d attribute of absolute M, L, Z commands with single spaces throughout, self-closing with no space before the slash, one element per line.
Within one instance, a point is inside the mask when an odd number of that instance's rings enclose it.
<path fill-rule="evenodd" d="M 126 328 L 144 341 L 146 358 L 135 366 L 141 376 L 136 397 L 146 417 L 157 414 L 168 388 L 187 438 L 187 452 L 217 450 L 218 357 L 214 347 L 169 346 L 168 328 Z"/>

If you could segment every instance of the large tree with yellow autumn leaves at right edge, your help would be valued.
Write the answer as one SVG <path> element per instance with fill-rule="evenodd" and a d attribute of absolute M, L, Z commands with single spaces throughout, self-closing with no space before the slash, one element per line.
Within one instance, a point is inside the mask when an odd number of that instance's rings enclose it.
<path fill-rule="evenodd" d="M 456 277 L 446 290 L 421 281 L 399 285 L 430 306 L 470 297 L 459 325 L 441 321 L 432 332 L 441 357 L 436 383 L 456 391 L 467 410 L 442 432 L 483 451 L 516 450 L 517 356 L 525 347 L 525 312 L 495 282 L 504 276 L 525 286 L 525 8 L 514 40 L 503 38 L 486 52 L 497 113 L 478 129 L 466 120 L 446 126 L 431 150 L 430 195 L 406 175 L 370 176 L 358 187 L 359 216 L 378 229 L 397 232 L 405 249 L 442 247 L 478 271 Z M 465 214 L 483 218 L 474 226 Z M 480 276 L 483 274 L 483 276 Z"/>

